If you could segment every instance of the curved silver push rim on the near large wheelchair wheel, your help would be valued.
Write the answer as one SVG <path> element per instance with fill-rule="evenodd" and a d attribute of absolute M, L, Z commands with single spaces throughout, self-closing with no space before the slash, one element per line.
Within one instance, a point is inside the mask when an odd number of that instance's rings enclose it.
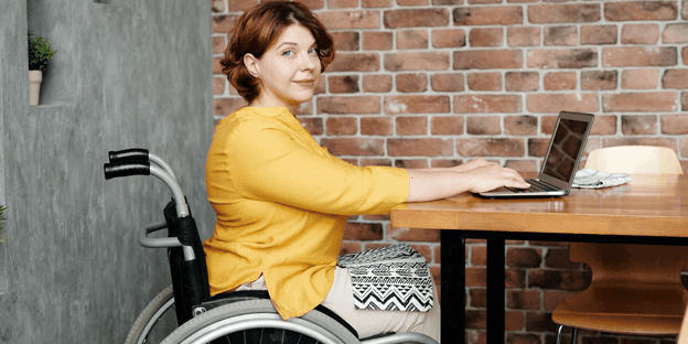
<path fill-rule="evenodd" d="M 266 316 L 269 315 L 269 319 Z M 239 320 L 240 319 L 240 320 Z M 189 338 L 181 342 L 181 344 L 205 344 L 209 343 L 222 335 L 234 333 L 237 331 L 270 327 L 294 331 L 305 334 L 321 343 L 325 344 L 341 344 L 342 341 L 327 333 L 325 329 L 323 332 L 318 332 L 303 324 L 299 324 L 295 321 L 284 321 L 277 314 L 247 314 L 233 316 L 223 321 L 218 321 L 211 326 L 207 326 L 208 331 L 203 333 L 196 333 Z M 321 327 L 322 329 L 322 327 Z"/>

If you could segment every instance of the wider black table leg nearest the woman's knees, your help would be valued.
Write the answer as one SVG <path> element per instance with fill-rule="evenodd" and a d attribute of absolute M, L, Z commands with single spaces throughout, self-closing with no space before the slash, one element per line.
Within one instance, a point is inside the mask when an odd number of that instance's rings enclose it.
<path fill-rule="evenodd" d="M 465 341 L 465 235 L 460 230 L 441 232 L 442 343 Z"/>

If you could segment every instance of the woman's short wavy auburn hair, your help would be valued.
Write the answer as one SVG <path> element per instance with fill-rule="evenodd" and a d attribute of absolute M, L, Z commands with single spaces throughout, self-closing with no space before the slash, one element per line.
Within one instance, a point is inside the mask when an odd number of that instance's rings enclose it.
<path fill-rule="evenodd" d="M 313 13 L 303 4 L 291 1 L 259 3 L 241 14 L 232 35 L 225 56 L 219 61 L 223 74 L 236 90 L 250 103 L 260 94 L 260 80 L 248 72 L 244 56 L 251 54 L 260 58 L 279 39 L 287 26 L 301 24 L 309 29 L 318 45 L 318 57 L 322 71 L 335 58 L 334 42 Z"/>

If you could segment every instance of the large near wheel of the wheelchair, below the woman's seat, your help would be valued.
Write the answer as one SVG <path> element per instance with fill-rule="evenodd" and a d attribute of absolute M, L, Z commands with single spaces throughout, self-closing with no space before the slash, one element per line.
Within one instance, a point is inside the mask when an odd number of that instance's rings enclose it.
<path fill-rule="evenodd" d="M 170 334 L 162 343 L 357 344 L 359 342 L 337 321 L 316 310 L 284 321 L 270 300 L 247 300 L 225 304 L 197 315 Z"/>

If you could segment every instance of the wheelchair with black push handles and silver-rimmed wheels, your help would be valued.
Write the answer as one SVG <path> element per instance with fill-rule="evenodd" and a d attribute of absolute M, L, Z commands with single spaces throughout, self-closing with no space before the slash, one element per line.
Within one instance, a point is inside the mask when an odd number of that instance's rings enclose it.
<path fill-rule="evenodd" d="M 186 198 L 170 165 L 146 149 L 110 151 L 105 179 L 153 175 L 171 191 L 164 221 L 144 226 L 139 244 L 166 248 L 172 284 L 137 318 L 127 344 L 143 343 L 327 343 L 438 344 L 419 333 L 380 333 L 359 338 L 356 331 L 323 305 L 299 318 L 282 320 L 267 291 L 246 290 L 209 297 L 205 254 Z M 168 229 L 166 237 L 149 235 Z"/>

